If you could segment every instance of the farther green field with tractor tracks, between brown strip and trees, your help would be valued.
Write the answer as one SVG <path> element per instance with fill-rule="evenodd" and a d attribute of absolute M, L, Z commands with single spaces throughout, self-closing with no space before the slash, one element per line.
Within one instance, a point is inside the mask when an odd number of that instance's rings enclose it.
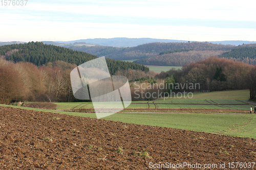
<path fill-rule="evenodd" d="M 251 105 L 241 102 L 248 100 L 249 90 L 215 91 L 194 93 L 192 99 L 165 98 L 156 101 L 133 101 L 128 109 L 140 108 L 186 108 L 186 109 L 232 109 L 249 110 Z M 154 102 L 154 104 L 153 104 Z M 92 103 L 55 103 L 57 110 L 92 109 Z M 156 106 L 155 106 L 156 105 Z"/>

